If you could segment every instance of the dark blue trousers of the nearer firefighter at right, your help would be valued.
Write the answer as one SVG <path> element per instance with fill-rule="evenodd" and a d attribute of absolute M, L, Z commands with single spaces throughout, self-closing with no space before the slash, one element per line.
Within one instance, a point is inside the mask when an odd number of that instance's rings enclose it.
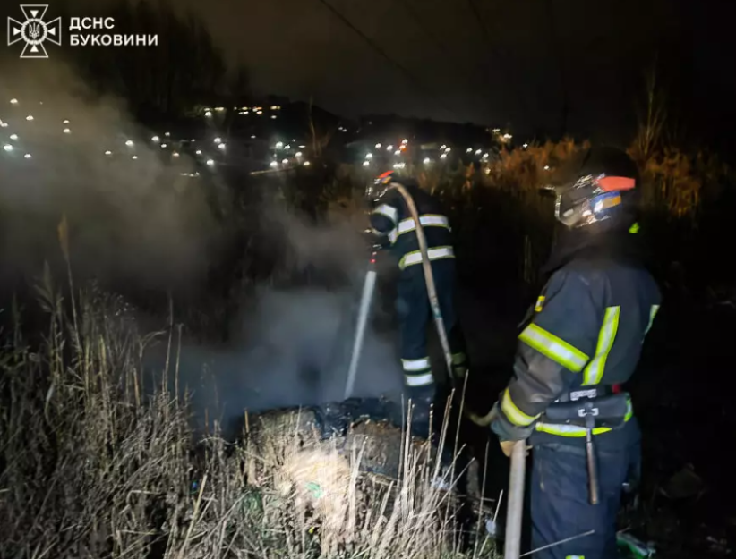
<path fill-rule="evenodd" d="M 639 442 L 597 449 L 598 504 L 588 500 L 586 450 L 582 445 L 535 445 L 531 479 L 532 549 L 575 538 L 535 553 L 537 559 L 617 559 L 616 517 L 624 483 L 639 460 Z"/>

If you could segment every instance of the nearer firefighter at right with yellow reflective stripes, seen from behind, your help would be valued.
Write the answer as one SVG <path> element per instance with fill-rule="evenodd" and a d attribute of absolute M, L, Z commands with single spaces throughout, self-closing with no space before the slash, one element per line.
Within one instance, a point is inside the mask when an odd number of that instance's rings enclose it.
<path fill-rule="evenodd" d="M 515 441 L 532 447 L 532 548 L 572 538 L 538 559 L 617 557 L 616 515 L 640 456 L 621 384 L 660 305 L 636 245 L 636 165 L 618 149 L 594 148 L 577 167 L 554 188 L 562 227 L 549 279 L 522 325 L 492 422 L 507 456 Z"/>

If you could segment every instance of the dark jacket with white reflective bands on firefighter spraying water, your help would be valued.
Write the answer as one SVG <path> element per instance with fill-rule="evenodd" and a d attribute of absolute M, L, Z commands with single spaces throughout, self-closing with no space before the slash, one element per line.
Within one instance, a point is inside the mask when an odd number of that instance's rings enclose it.
<path fill-rule="evenodd" d="M 440 202 L 429 192 L 413 184 L 404 185 L 414 199 L 419 222 L 427 240 L 429 259 L 455 258 L 452 249 L 449 220 L 442 213 Z M 389 189 L 371 213 L 372 233 L 389 245 L 403 271 L 422 263 L 415 222 L 407 203 L 396 189 Z M 421 268 L 421 267 L 420 267 Z"/>

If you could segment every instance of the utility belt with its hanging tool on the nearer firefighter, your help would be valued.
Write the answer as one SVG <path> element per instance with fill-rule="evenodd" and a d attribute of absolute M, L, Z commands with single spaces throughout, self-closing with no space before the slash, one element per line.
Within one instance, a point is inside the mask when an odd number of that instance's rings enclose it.
<path fill-rule="evenodd" d="M 631 398 L 620 385 L 580 387 L 552 402 L 537 430 L 560 436 L 586 437 L 590 504 L 598 504 L 598 464 L 593 435 L 623 427 L 631 418 Z"/>

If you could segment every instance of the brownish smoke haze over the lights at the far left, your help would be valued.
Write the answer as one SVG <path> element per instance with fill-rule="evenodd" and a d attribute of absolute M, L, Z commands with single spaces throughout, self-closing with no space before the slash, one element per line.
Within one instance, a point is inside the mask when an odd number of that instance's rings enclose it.
<path fill-rule="evenodd" d="M 152 142 L 158 133 L 165 143 L 164 131 L 142 130 L 58 61 L 4 65 L 3 274 L 36 273 L 39 260 L 59 255 L 66 215 L 77 275 L 148 286 L 201 275 L 215 224 L 193 188 L 193 159 Z"/>

